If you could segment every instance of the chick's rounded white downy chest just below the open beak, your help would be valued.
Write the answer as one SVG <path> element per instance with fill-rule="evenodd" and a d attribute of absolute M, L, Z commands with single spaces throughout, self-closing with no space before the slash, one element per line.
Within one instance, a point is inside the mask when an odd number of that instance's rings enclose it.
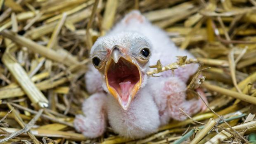
<path fill-rule="evenodd" d="M 126 111 L 113 97 L 108 97 L 109 124 L 115 132 L 121 135 L 128 137 L 132 137 L 133 134 L 142 135 L 157 130 L 160 125 L 158 108 L 152 96 L 148 92 L 139 92 L 136 97 Z"/>

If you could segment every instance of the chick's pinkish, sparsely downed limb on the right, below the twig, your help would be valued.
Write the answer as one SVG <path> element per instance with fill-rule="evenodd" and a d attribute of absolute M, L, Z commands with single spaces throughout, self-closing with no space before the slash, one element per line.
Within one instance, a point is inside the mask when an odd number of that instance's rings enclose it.
<path fill-rule="evenodd" d="M 186 100 L 186 84 L 177 77 L 160 78 L 153 84 L 152 90 L 162 125 L 168 123 L 170 118 L 185 120 L 187 116 L 181 114 L 180 109 L 191 116 L 202 107 L 200 99 Z"/>

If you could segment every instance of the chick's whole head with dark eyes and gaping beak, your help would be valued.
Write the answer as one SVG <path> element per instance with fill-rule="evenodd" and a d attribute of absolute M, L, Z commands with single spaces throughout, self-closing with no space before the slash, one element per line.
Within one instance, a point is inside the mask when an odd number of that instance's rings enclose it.
<path fill-rule="evenodd" d="M 127 110 L 145 85 L 151 56 L 149 40 L 138 33 L 109 34 L 92 46 L 92 63 L 104 76 L 107 90 Z"/>

